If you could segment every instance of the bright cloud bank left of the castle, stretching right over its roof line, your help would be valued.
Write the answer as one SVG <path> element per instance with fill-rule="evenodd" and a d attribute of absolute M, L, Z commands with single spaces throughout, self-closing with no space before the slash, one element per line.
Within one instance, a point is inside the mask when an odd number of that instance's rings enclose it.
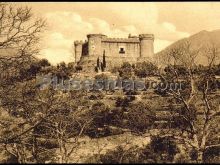
<path fill-rule="evenodd" d="M 73 12 L 47 13 L 48 29 L 44 35 L 40 58 L 47 58 L 52 64 L 74 61 L 74 40 L 86 40 L 89 33 L 103 33 L 110 37 L 127 37 L 129 33 L 137 33 L 135 26 L 110 26 L 99 18 L 83 20 Z M 54 57 L 54 58 L 53 58 Z"/>

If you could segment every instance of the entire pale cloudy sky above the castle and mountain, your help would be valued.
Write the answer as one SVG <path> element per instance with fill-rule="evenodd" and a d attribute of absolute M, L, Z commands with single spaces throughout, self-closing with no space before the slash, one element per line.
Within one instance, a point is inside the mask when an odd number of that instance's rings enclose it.
<path fill-rule="evenodd" d="M 74 61 L 73 41 L 88 33 L 127 37 L 153 33 L 158 52 L 201 30 L 220 29 L 219 2 L 26 2 L 47 19 L 41 57 L 51 63 Z"/>

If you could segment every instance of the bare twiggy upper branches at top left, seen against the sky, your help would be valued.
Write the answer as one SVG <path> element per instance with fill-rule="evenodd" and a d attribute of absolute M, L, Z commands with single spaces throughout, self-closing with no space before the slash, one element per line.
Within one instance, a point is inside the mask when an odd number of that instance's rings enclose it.
<path fill-rule="evenodd" d="M 29 7 L 17 7 L 13 3 L 0 4 L 0 49 L 11 48 L 17 53 L 36 53 L 39 34 L 45 27 L 41 18 L 33 19 Z"/>

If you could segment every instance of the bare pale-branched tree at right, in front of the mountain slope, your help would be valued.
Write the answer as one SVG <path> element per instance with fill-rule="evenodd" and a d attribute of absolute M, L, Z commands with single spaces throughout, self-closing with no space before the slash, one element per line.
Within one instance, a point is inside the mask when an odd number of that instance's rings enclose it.
<path fill-rule="evenodd" d="M 204 161 L 204 152 L 213 146 L 211 141 L 218 136 L 216 128 L 219 128 L 217 116 L 220 114 L 220 100 L 217 95 L 212 95 L 212 87 L 210 86 L 213 78 L 210 71 L 216 59 L 219 58 L 219 53 L 214 46 L 207 50 L 208 69 L 202 75 L 195 73 L 196 57 L 201 51 L 200 49 L 193 50 L 191 44 L 185 42 L 180 48 L 171 52 L 170 55 L 175 63 L 182 64 L 187 69 L 185 76 L 188 78 L 189 90 L 169 89 L 167 91 L 182 107 L 181 111 L 178 111 L 178 116 L 174 116 L 174 118 L 179 117 L 182 121 L 179 128 L 184 129 L 187 134 L 183 136 L 183 132 L 180 134 L 177 131 L 171 131 L 171 133 L 176 139 L 197 151 L 198 162 Z M 176 80 L 180 78 L 177 73 L 173 77 Z M 214 146 L 216 145 L 219 144 L 214 144 Z"/>

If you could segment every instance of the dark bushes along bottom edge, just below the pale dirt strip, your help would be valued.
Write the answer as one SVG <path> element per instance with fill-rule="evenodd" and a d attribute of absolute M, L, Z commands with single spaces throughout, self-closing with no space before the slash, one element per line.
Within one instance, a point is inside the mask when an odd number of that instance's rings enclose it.
<path fill-rule="evenodd" d="M 145 148 L 136 146 L 125 149 L 118 146 L 106 154 L 95 155 L 99 163 L 172 163 L 174 156 L 179 152 L 175 141 L 171 137 L 152 138 L 152 142 Z"/>

